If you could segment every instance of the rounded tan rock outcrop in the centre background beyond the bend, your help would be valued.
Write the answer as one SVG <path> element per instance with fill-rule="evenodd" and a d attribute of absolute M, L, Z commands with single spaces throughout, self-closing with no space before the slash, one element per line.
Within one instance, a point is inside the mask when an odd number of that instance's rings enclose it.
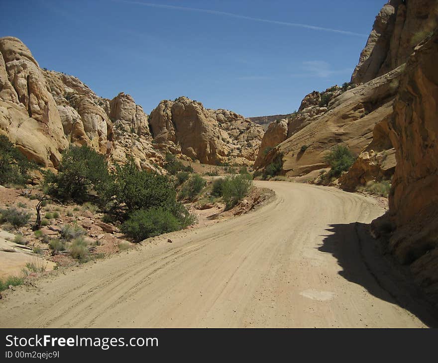
<path fill-rule="evenodd" d="M 206 109 L 187 97 L 163 100 L 150 114 L 154 142 L 201 163 L 250 165 L 263 129 L 232 111 Z"/>

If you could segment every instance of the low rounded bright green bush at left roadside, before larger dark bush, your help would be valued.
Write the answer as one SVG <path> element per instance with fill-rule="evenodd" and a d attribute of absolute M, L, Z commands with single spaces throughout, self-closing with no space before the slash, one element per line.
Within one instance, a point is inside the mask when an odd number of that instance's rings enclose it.
<path fill-rule="evenodd" d="M 131 213 L 121 225 L 121 230 L 135 242 L 140 242 L 162 233 L 177 231 L 181 227 L 180 222 L 171 212 L 158 207 Z"/>

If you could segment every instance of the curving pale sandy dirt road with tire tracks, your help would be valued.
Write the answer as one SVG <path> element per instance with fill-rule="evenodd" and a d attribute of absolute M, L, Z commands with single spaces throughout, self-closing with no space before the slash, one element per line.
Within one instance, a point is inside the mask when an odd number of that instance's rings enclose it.
<path fill-rule="evenodd" d="M 21 286 L 1 327 L 422 327 L 362 261 L 356 224 L 383 213 L 334 188 L 257 181 L 272 203 Z"/>

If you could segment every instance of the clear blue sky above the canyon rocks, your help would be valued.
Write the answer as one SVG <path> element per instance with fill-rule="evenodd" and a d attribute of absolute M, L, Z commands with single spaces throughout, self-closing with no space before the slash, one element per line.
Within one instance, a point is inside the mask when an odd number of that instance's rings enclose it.
<path fill-rule="evenodd" d="M 0 0 L 0 36 L 40 67 L 149 113 L 186 95 L 244 116 L 290 113 L 349 81 L 385 0 Z"/>

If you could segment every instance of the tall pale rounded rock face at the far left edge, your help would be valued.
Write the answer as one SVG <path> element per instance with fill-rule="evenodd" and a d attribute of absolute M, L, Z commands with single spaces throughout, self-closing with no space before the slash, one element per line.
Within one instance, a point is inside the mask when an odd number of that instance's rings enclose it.
<path fill-rule="evenodd" d="M 38 63 L 17 38 L 0 38 L 0 132 L 29 159 L 56 167 L 68 141 Z"/>

